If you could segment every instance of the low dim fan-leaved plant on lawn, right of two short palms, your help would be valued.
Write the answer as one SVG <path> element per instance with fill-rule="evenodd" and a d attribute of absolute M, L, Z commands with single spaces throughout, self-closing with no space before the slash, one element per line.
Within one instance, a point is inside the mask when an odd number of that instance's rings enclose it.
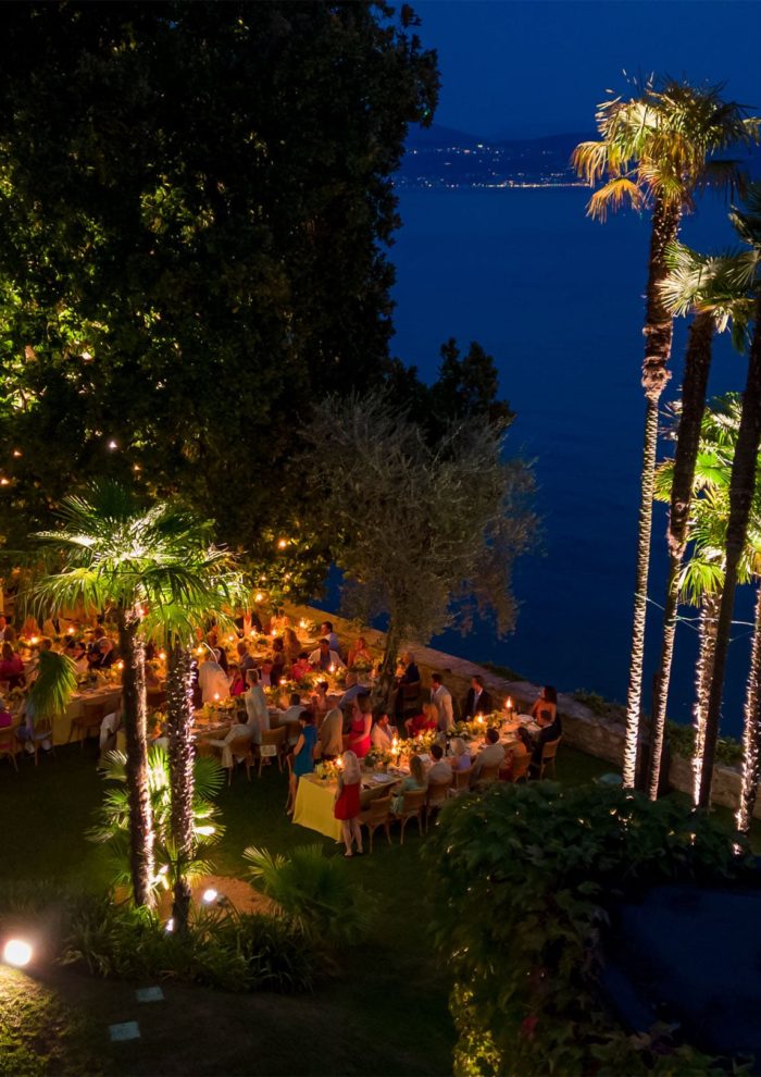
<path fill-rule="evenodd" d="M 254 887 L 315 944 L 355 942 L 367 929 L 372 899 L 349 877 L 346 864 L 325 856 L 320 845 L 299 845 L 287 855 L 251 845 L 244 857 Z"/>

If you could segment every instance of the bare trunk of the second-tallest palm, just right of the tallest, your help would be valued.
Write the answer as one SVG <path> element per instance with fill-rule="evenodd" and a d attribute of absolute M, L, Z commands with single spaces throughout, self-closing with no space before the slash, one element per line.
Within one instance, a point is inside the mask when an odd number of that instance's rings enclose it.
<path fill-rule="evenodd" d="M 671 486 L 671 512 L 669 516 L 669 577 L 663 611 L 663 641 L 658 669 L 656 701 L 652 711 L 652 734 L 650 742 L 649 795 L 658 799 L 663 755 L 669 682 L 674 657 L 676 615 L 679 604 L 679 579 L 682 560 L 687 546 L 689 508 L 693 500 L 695 465 L 700 445 L 700 424 L 706 409 L 706 389 L 711 368 L 711 342 L 713 341 L 713 317 L 697 314 L 689 327 L 689 338 L 685 355 L 685 377 L 682 386 L 682 414 L 674 455 L 674 479 Z"/>

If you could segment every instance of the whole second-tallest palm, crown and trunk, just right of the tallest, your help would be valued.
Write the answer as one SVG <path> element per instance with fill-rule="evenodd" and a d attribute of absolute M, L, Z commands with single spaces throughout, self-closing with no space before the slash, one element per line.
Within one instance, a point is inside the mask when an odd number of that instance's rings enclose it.
<path fill-rule="evenodd" d="M 682 561 L 688 541 L 693 485 L 706 407 L 713 334 L 723 332 L 732 324 L 735 345 L 738 349 L 743 349 L 748 319 L 752 313 L 751 300 L 745 292 L 735 287 L 732 273 L 734 263 L 731 259 L 707 258 L 675 244 L 666 251 L 666 260 L 670 272 L 661 285 L 666 308 L 674 314 L 685 314 L 691 310 L 695 317 L 689 327 L 685 354 L 676 451 L 672 469 L 668 530 L 669 573 L 663 609 L 661 657 L 656 678 L 648 775 L 648 791 L 652 800 L 657 799 L 660 784 Z"/>

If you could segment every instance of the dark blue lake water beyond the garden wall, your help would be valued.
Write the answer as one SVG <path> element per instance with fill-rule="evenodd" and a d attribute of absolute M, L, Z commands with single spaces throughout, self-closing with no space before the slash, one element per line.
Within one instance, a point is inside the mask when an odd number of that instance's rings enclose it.
<path fill-rule="evenodd" d="M 517 412 L 511 450 L 536 461 L 544 548 L 519 565 L 515 633 L 499 641 L 482 623 L 465 639 L 448 632 L 434 645 L 564 691 L 586 688 L 623 701 L 645 416 L 639 372 L 649 221 L 626 214 L 600 225 L 585 216 L 587 197 L 583 188 L 402 193 L 404 224 L 391 250 L 392 348 L 431 380 L 447 337 L 457 337 L 463 350 L 477 339 L 495 356 L 502 395 Z M 732 246 L 726 207 L 703 203 L 682 238 L 703 250 Z M 664 403 L 678 389 L 685 338 L 681 323 Z M 722 339 L 710 392 L 743 383 L 744 360 Z M 664 533 L 665 511 L 657 506 L 660 556 L 650 596 L 659 604 Z M 750 620 L 751 606 L 751 597 L 741 596 L 736 618 Z M 648 684 L 658 660 L 658 612 L 650 607 Z M 723 729 L 737 734 L 750 628 L 738 624 L 734 634 Z M 669 707 L 679 721 L 689 720 L 696 646 L 694 628 L 681 624 Z"/>

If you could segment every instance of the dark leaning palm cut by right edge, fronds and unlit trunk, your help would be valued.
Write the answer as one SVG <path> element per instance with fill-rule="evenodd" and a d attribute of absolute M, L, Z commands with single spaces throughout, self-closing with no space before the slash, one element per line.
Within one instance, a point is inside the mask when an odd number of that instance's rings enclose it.
<path fill-rule="evenodd" d="M 759 445 L 761 445 L 761 273 L 759 272 L 761 267 L 761 183 L 753 184 L 749 188 L 747 209 L 745 211 L 735 210 L 731 214 L 731 219 L 740 239 L 750 248 L 741 260 L 736 260 L 734 273 L 736 286 L 738 288 L 746 287 L 753 295 L 753 334 L 748 352 L 748 375 L 743 394 L 743 413 L 737 430 L 737 443 L 729 481 L 724 592 L 716 626 L 716 651 L 708 700 L 706 748 L 698 797 L 698 804 L 703 808 L 709 807 L 711 802 L 713 764 L 719 739 L 726 656 L 735 607 L 735 589 L 740 559 L 746 545 L 756 491 Z"/>

